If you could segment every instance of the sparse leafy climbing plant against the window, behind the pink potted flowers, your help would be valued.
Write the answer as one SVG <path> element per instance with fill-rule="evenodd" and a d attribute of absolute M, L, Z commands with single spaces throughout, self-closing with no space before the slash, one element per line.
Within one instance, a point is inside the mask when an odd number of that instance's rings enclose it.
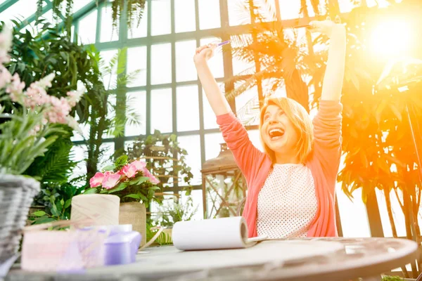
<path fill-rule="evenodd" d="M 158 130 L 152 135 L 140 136 L 127 148 L 129 159 L 146 159 L 148 169 L 160 180 L 160 188 L 169 186 L 169 179 L 173 178 L 173 183 L 182 183 L 189 194 L 193 174 L 186 164 L 187 154 L 179 146 L 176 135 L 163 135 Z"/>

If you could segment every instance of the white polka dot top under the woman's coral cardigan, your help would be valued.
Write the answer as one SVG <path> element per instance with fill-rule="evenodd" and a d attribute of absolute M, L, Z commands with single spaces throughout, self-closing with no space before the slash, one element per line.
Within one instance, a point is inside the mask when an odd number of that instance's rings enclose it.
<path fill-rule="evenodd" d="M 257 234 L 306 237 L 317 208 L 314 178 L 304 164 L 274 164 L 258 195 Z"/>

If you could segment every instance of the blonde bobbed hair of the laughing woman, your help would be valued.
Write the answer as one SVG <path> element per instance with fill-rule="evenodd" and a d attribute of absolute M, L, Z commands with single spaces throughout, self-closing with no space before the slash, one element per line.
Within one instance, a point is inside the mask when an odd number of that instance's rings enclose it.
<path fill-rule="evenodd" d="M 314 143 L 314 126 L 312 125 L 312 120 L 309 117 L 309 114 L 305 110 L 305 107 L 300 105 L 295 100 L 291 98 L 266 98 L 264 106 L 261 110 L 260 117 L 260 138 L 264 150 L 267 152 L 271 161 L 276 162 L 276 155 L 273 150 L 271 150 L 265 143 L 262 141 L 262 123 L 264 121 L 265 110 L 269 105 L 276 105 L 281 108 L 283 112 L 287 115 L 290 122 L 293 124 L 293 127 L 298 132 L 299 140 L 298 145 L 296 146 L 296 156 L 300 163 L 305 163 L 307 157 L 312 151 L 312 144 Z"/>

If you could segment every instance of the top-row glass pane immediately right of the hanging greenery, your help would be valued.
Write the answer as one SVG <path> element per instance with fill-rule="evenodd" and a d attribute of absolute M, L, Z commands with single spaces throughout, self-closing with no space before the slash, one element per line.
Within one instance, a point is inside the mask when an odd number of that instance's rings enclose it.
<path fill-rule="evenodd" d="M 151 35 L 172 32 L 170 8 L 170 0 L 151 0 Z"/>

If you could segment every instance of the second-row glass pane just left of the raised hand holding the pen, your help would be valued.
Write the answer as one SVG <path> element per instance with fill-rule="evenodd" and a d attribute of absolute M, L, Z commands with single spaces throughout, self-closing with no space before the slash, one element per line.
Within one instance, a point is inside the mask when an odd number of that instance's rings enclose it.
<path fill-rule="evenodd" d="M 176 42 L 176 81 L 193 81 L 197 79 L 193 55 L 196 41 Z"/>

